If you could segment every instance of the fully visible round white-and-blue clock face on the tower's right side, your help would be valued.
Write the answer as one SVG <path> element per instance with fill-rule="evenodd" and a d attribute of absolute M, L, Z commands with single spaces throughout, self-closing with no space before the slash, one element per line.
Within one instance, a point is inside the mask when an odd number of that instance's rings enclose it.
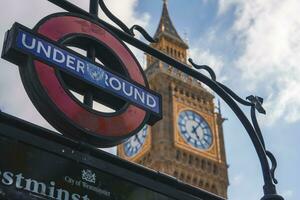
<path fill-rule="evenodd" d="M 193 147 L 206 150 L 212 145 L 210 127 L 199 114 L 182 111 L 178 117 L 178 128 L 184 140 Z"/>

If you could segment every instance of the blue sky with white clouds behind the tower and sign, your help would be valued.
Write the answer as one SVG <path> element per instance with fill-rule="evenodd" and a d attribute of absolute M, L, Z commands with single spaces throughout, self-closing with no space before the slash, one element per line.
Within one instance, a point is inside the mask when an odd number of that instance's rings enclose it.
<path fill-rule="evenodd" d="M 88 8 L 88 0 L 71 0 Z M 129 27 L 143 26 L 154 34 L 161 0 L 106 0 Z M 188 41 L 189 57 L 211 66 L 217 79 L 245 98 L 264 98 L 267 115 L 259 122 L 267 149 L 278 161 L 278 193 L 286 200 L 300 196 L 300 1 L 299 0 L 169 0 L 169 13 L 179 34 Z M 0 3 L 0 43 L 17 21 L 33 27 L 47 14 L 62 11 L 46 0 Z M 100 14 L 103 17 L 103 13 Z M 105 17 L 104 17 L 105 19 Z M 2 47 L 0 47 L 2 50 Z M 134 49 L 143 64 L 143 53 Z M 0 109 L 51 128 L 24 91 L 17 66 L 0 60 Z M 218 99 L 218 97 L 216 97 Z M 221 101 L 229 199 L 263 196 L 260 164 L 250 138 L 230 108 Z M 249 109 L 244 111 L 249 113 Z"/>

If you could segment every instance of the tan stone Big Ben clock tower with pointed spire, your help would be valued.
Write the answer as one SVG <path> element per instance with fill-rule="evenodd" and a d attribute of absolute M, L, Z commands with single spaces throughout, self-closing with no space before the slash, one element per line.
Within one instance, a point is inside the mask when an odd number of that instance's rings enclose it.
<path fill-rule="evenodd" d="M 166 0 L 155 38 L 152 47 L 187 62 L 188 45 L 172 24 Z M 150 55 L 145 73 L 151 89 L 163 97 L 163 119 L 118 146 L 118 155 L 227 198 L 224 120 L 215 112 L 214 96 Z"/>

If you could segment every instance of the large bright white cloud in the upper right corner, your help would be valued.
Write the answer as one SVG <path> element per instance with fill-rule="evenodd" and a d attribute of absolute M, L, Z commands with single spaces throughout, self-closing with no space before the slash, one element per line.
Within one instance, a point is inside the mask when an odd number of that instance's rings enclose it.
<path fill-rule="evenodd" d="M 268 121 L 300 119 L 300 18 L 298 0 L 220 1 L 235 5 L 232 28 L 242 45 L 236 66 L 248 90 L 267 94 Z"/>

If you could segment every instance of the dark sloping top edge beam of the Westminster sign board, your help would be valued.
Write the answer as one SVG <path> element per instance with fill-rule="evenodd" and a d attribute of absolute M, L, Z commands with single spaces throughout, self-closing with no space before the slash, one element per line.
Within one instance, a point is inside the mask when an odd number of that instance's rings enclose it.
<path fill-rule="evenodd" d="M 0 111 L 0 140 L 2 138 L 12 141 L 16 145 L 25 144 L 41 151 L 56 154 L 70 160 L 70 162 L 76 161 L 78 164 L 87 165 L 113 175 L 118 180 L 125 180 L 172 199 L 225 200 L 220 196 L 185 184 L 167 174 L 128 162 L 92 145 L 69 139 Z"/>

